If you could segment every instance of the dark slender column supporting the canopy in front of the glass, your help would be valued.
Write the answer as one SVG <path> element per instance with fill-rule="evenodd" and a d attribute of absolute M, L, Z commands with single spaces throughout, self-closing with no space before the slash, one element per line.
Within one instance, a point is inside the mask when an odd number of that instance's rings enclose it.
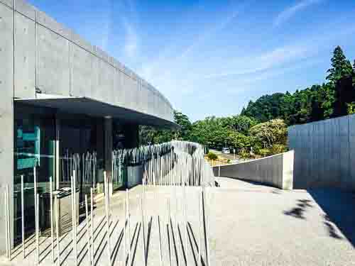
<path fill-rule="evenodd" d="M 105 155 L 105 164 L 104 170 L 107 174 L 107 179 L 109 184 L 109 194 L 113 193 L 113 184 L 112 184 L 112 118 L 111 116 L 105 117 L 104 120 L 104 133 L 105 133 L 105 145 L 104 145 L 104 155 Z"/>

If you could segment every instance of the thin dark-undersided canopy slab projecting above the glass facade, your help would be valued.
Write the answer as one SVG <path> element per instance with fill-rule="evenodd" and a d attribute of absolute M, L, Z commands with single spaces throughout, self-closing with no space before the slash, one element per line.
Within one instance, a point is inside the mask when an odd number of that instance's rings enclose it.
<path fill-rule="evenodd" d="M 118 118 L 125 123 L 138 123 L 139 125 L 158 126 L 178 130 L 177 123 L 163 118 L 140 113 L 131 109 L 89 99 L 87 97 L 41 96 L 38 99 L 15 99 L 15 102 L 32 106 L 41 106 L 57 109 L 63 113 L 85 114 L 94 117 Z"/>

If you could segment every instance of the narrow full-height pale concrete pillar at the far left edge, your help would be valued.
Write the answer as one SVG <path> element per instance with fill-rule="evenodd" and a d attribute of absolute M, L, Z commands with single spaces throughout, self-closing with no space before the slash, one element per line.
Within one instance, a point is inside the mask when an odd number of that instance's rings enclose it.
<path fill-rule="evenodd" d="M 10 231 L 13 245 L 13 10 L 0 3 L 0 202 L 9 185 Z M 6 250 L 5 205 L 0 204 L 0 255 Z"/>

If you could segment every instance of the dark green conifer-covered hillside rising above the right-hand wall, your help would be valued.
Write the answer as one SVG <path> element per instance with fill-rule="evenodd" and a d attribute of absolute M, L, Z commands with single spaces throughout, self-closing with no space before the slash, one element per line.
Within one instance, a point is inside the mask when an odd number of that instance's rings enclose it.
<path fill-rule="evenodd" d="M 335 48 L 326 82 L 296 91 L 264 95 L 250 101 L 244 116 L 265 122 L 282 118 L 288 125 L 308 123 L 355 112 L 355 62 L 346 59 L 342 48 Z"/>

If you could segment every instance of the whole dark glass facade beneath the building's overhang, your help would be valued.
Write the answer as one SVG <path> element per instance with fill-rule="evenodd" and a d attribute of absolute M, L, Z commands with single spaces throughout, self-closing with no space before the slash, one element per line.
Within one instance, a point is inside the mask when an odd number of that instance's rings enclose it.
<path fill-rule="evenodd" d="M 70 187 L 72 170 L 76 170 L 82 201 L 91 187 L 97 188 L 97 193 L 103 192 L 105 155 L 111 153 L 111 150 L 105 153 L 105 135 L 112 138 L 112 145 L 106 143 L 109 149 L 132 148 L 137 143 L 135 136 L 138 131 L 135 129 L 138 127 L 113 119 L 112 132 L 105 134 L 105 118 L 58 113 L 56 109 L 19 103 L 15 103 L 14 110 L 13 233 L 14 242 L 21 243 L 21 176 L 24 182 L 25 232 L 30 235 L 35 231 L 34 168 L 40 195 L 50 192 L 50 177 L 53 177 L 53 187 L 55 184 L 59 184 L 59 188 Z M 55 150 L 57 140 L 58 151 Z M 58 161 L 59 180 L 55 180 Z M 114 189 L 124 186 L 122 177 L 126 177 L 126 168 L 121 167 L 117 174 L 118 177 L 113 178 Z M 47 228 L 47 222 L 41 223 L 45 220 L 43 217 L 48 216 L 49 206 L 45 202 L 40 197 L 40 226 Z"/>

